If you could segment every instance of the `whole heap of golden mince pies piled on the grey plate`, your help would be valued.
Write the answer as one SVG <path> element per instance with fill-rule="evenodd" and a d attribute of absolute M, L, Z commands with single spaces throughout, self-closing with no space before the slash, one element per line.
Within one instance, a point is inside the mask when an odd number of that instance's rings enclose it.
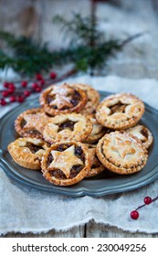
<path fill-rule="evenodd" d="M 139 172 L 153 143 L 150 130 L 137 124 L 143 102 L 130 93 L 99 101 L 99 92 L 86 84 L 49 86 L 40 95 L 41 108 L 17 116 L 16 132 L 23 138 L 8 144 L 8 152 L 16 164 L 41 170 L 57 186 L 109 170 Z"/>

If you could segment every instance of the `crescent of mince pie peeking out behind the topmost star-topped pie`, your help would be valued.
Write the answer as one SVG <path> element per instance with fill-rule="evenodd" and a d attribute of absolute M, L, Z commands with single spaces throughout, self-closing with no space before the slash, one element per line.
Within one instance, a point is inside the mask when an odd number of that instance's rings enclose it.
<path fill-rule="evenodd" d="M 95 112 L 100 103 L 100 93 L 88 84 L 76 83 L 72 84 L 72 87 L 86 91 L 88 95 L 88 102 L 80 113 L 88 114 Z"/>

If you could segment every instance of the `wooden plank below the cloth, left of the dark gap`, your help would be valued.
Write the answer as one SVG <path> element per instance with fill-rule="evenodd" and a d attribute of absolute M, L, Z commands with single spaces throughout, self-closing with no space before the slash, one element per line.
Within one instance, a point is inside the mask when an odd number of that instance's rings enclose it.
<path fill-rule="evenodd" d="M 85 226 L 75 227 L 73 229 L 69 229 L 68 231 L 59 231 L 52 229 L 47 233 L 41 232 L 40 234 L 33 234 L 31 232 L 28 233 L 20 233 L 20 232 L 10 232 L 0 238 L 84 238 L 85 237 Z"/>

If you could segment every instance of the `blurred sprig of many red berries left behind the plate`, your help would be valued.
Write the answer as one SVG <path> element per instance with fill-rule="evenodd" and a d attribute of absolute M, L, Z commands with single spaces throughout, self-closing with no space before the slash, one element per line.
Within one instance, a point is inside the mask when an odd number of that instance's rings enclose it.
<path fill-rule="evenodd" d="M 0 91 L 0 106 L 3 107 L 13 102 L 22 103 L 32 93 L 42 91 L 47 86 L 51 85 L 52 82 L 55 83 L 60 80 L 65 80 L 75 72 L 76 70 L 72 69 L 60 77 L 57 76 L 56 72 L 51 72 L 47 78 L 37 73 L 35 80 L 5 81 L 3 84 L 4 90 Z"/>

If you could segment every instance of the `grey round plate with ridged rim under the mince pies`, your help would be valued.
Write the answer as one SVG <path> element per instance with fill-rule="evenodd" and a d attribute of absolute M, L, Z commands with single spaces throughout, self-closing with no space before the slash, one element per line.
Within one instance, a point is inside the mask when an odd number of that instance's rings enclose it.
<path fill-rule="evenodd" d="M 108 92 L 101 92 L 101 99 L 107 96 Z M 15 140 L 16 132 L 14 122 L 16 116 L 26 109 L 38 106 L 38 99 L 31 99 L 16 107 L 11 112 L 5 114 L 0 120 L 0 165 L 8 176 L 29 187 L 40 190 L 58 193 L 70 197 L 91 196 L 100 197 L 108 194 L 129 191 L 138 187 L 145 186 L 158 178 L 158 112 L 151 106 L 145 104 L 145 112 L 141 123 L 146 125 L 153 133 L 153 145 L 149 150 L 149 159 L 141 172 L 130 176 L 114 175 L 110 172 L 104 172 L 100 176 L 85 178 L 79 184 L 71 187 L 57 187 L 49 183 L 39 171 L 33 171 L 23 168 L 12 160 L 7 152 L 7 144 Z"/>

